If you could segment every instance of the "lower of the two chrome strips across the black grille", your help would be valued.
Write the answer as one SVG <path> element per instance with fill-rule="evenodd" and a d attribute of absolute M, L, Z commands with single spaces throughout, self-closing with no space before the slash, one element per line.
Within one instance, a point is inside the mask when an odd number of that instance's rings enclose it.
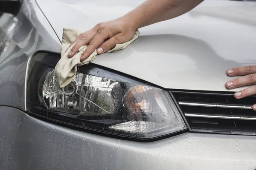
<path fill-rule="evenodd" d="M 245 116 L 228 116 L 228 115 L 207 115 L 198 113 L 184 113 L 187 117 L 201 117 L 201 118 L 218 118 L 218 119 L 242 119 L 242 120 L 256 120 L 256 117 Z"/>

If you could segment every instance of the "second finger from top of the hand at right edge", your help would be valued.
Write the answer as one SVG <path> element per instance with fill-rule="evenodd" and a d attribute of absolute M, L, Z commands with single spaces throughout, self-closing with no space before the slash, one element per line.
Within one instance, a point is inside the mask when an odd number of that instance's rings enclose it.
<path fill-rule="evenodd" d="M 256 74 L 249 74 L 226 82 L 226 88 L 232 89 L 253 84 L 256 84 Z"/>

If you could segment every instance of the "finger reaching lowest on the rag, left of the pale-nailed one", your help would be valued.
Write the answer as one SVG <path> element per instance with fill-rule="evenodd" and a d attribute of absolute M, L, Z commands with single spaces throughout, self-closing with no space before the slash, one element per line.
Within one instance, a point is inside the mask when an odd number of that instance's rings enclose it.
<path fill-rule="evenodd" d="M 90 56 L 90 54 L 92 54 L 93 51 L 95 51 L 96 48 L 99 47 L 99 45 L 101 45 L 102 42 L 104 42 L 107 38 L 108 35 L 105 32 L 99 31 L 90 41 L 88 47 L 86 48 L 84 54 L 81 57 L 81 61 L 87 59 Z"/>

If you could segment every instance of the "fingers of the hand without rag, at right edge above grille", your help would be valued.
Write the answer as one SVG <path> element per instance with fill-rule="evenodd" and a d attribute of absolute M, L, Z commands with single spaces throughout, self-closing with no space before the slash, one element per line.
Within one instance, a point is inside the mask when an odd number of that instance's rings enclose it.
<path fill-rule="evenodd" d="M 227 70 L 228 76 L 243 76 L 226 82 L 226 88 L 233 89 L 246 85 L 252 85 L 249 88 L 236 92 L 234 94 L 236 99 L 241 99 L 246 96 L 256 94 L 256 65 L 248 65 L 243 67 L 230 68 Z M 256 111 L 256 104 L 253 105 L 253 110 Z"/>

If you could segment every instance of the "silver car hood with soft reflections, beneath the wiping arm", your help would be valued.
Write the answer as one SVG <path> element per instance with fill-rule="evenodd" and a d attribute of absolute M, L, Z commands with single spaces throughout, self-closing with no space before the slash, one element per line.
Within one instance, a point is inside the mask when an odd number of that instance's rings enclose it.
<path fill-rule="evenodd" d="M 37 0 L 60 40 L 63 28 L 87 31 L 142 2 Z M 93 62 L 163 88 L 204 91 L 228 91 L 228 68 L 256 64 L 256 3 L 207 0 L 139 30 L 140 37 L 125 50 L 98 55 Z"/>

